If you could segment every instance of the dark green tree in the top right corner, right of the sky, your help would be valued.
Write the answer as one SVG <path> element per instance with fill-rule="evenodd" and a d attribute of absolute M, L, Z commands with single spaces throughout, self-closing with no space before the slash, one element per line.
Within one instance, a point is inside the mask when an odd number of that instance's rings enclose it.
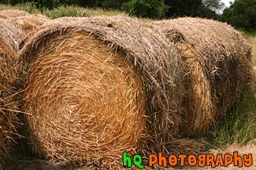
<path fill-rule="evenodd" d="M 256 0 L 236 0 L 224 9 L 221 20 L 237 28 L 256 31 Z"/>

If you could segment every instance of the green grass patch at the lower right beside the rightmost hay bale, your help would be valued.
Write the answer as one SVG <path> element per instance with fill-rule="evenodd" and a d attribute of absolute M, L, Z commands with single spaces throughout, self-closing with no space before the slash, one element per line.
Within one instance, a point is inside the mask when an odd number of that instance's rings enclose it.
<path fill-rule="evenodd" d="M 232 143 L 244 145 L 256 138 L 256 99 L 250 87 L 242 102 L 221 118 L 220 124 L 206 138 L 213 148 L 223 148 Z"/>

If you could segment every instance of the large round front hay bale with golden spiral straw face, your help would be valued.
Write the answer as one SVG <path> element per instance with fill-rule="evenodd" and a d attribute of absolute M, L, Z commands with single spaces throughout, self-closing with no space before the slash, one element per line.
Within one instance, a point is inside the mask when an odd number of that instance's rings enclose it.
<path fill-rule="evenodd" d="M 65 20 L 30 34 L 19 52 L 33 152 L 102 166 L 121 163 L 124 151 L 165 152 L 183 92 L 171 43 L 128 17 Z"/>

